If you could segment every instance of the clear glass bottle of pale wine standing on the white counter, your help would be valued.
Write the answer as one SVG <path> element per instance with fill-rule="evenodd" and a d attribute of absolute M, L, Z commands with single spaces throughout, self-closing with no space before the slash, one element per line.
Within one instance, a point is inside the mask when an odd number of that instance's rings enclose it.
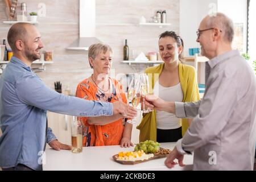
<path fill-rule="evenodd" d="M 82 152 L 82 122 L 79 117 L 72 117 L 71 136 L 72 152 Z"/>

